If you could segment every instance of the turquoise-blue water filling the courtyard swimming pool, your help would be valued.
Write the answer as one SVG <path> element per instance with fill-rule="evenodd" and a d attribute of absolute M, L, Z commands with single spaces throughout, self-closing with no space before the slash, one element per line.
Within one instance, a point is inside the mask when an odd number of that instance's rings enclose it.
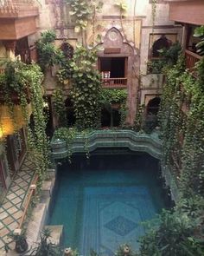
<path fill-rule="evenodd" d="M 141 222 L 164 207 L 156 176 L 158 161 L 147 154 L 76 156 L 58 169 L 49 225 L 64 226 L 64 245 L 114 255 L 123 243 L 138 248 Z"/>

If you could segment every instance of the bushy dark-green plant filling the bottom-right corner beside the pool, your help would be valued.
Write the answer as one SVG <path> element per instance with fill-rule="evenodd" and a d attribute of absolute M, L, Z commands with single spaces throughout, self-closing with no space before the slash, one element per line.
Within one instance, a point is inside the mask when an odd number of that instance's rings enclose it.
<path fill-rule="evenodd" d="M 158 226 L 140 240 L 141 256 L 203 255 L 201 243 L 193 236 L 196 220 L 185 213 L 169 211 L 163 211 L 158 218 Z"/>

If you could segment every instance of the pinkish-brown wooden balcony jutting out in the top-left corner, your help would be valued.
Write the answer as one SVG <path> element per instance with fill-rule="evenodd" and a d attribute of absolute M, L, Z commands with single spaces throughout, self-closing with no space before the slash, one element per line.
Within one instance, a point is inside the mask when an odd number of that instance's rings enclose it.
<path fill-rule="evenodd" d="M 0 40 L 17 40 L 35 33 L 38 14 L 34 0 L 0 1 Z"/>

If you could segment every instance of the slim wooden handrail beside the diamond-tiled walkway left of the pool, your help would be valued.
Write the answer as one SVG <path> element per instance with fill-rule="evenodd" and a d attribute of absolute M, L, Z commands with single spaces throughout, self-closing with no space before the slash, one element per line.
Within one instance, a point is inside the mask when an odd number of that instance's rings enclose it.
<path fill-rule="evenodd" d="M 19 229 L 22 228 L 22 223 L 25 220 L 25 217 L 26 217 L 26 214 L 27 214 L 27 211 L 28 211 L 28 208 L 29 208 L 30 201 L 31 201 L 32 197 L 35 194 L 35 187 L 36 187 L 37 181 L 38 181 L 38 175 L 35 174 L 35 178 L 31 182 L 31 185 L 29 187 L 29 193 L 26 195 L 25 204 L 24 204 L 24 207 L 23 207 L 22 218 L 21 218 L 21 220 L 19 222 L 19 225 L 18 225 Z"/>

